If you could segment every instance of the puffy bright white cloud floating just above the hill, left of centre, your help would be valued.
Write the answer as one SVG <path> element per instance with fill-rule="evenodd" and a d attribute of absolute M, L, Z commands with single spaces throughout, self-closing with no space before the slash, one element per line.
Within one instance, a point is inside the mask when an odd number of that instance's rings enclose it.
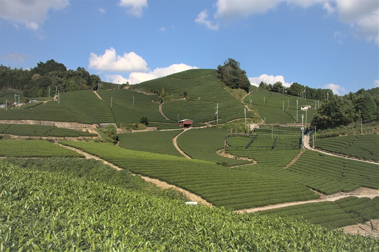
<path fill-rule="evenodd" d="M 116 50 L 111 47 L 105 50 L 103 55 L 90 54 L 88 67 L 99 71 L 133 72 L 147 71 L 147 63 L 141 56 L 134 52 L 116 55 Z"/>

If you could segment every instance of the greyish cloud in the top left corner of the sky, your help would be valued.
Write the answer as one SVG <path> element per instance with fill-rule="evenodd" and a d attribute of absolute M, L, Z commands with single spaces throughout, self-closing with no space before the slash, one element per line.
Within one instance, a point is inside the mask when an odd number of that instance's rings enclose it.
<path fill-rule="evenodd" d="M 48 18 L 50 9 L 57 11 L 68 5 L 68 0 L 1 0 L 0 17 L 37 31 Z"/>

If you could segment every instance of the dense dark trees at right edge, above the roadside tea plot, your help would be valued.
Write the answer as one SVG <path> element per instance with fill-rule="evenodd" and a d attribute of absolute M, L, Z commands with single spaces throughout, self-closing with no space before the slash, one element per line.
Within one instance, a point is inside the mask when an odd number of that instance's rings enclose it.
<path fill-rule="evenodd" d="M 379 88 L 334 95 L 317 110 L 312 125 L 318 129 L 347 125 L 354 121 L 364 123 L 379 119 Z"/>

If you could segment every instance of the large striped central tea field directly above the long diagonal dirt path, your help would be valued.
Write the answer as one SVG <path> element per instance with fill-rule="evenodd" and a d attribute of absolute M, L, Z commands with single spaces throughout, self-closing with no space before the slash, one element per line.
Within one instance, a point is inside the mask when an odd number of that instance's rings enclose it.
<path fill-rule="evenodd" d="M 189 160 L 113 146 L 110 143 L 63 141 L 133 173 L 158 178 L 200 195 L 214 206 L 253 208 L 319 198 L 299 183 Z"/>

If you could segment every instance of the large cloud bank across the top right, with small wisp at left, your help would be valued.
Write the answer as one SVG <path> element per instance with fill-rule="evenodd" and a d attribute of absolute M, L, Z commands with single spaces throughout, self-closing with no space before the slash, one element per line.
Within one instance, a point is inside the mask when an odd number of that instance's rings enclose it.
<path fill-rule="evenodd" d="M 378 0 L 218 0 L 214 18 L 235 20 L 265 14 L 282 2 L 300 8 L 320 5 L 328 14 L 336 15 L 341 23 L 349 24 L 355 37 L 379 44 Z M 207 13 L 203 12 L 197 19 L 204 20 L 206 26 L 211 26 Z"/>

